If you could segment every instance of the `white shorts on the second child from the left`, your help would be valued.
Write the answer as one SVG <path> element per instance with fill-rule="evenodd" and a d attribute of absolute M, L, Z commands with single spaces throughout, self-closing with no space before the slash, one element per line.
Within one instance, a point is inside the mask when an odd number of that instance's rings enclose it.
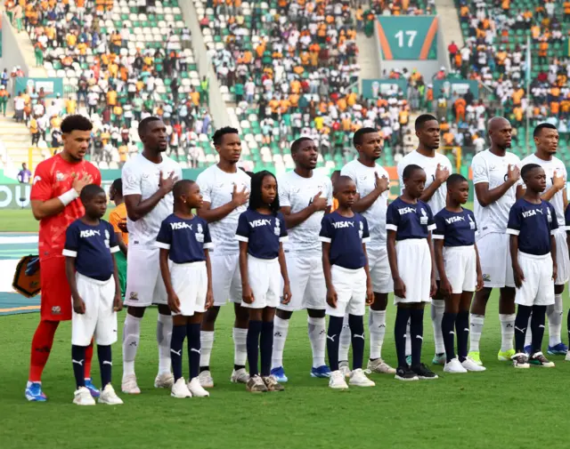
<path fill-rule="evenodd" d="M 208 293 L 208 270 L 206 262 L 174 263 L 170 262 L 170 278 L 178 300 L 180 313 L 191 317 L 194 313 L 206 311 L 206 293 Z"/>

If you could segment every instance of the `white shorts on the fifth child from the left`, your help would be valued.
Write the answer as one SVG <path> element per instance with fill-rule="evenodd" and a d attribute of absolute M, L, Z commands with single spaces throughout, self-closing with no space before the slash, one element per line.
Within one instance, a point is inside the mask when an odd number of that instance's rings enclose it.
<path fill-rule="evenodd" d="M 398 271 L 406 287 L 406 297 L 394 295 L 394 303 L 431 302 L 431 252 L 428 240 L 409 238 L 395 244 Z"/>

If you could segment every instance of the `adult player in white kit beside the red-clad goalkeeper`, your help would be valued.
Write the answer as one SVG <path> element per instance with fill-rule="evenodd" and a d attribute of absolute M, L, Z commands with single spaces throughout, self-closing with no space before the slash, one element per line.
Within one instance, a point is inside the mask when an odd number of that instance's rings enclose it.
<path fill-rule="evenodd" d="M 182 178 L 180 165 L 167 156 L 167 127 L 158 117 L 141 120 L 138 127 L 142 153 L 123 166 L 123 195 L 126 204 L 126 226 L 129 248 L 126 267 L 126 309 L 123 328 L 123 381 L 121 389 L 129 395 L 141 392 L 134 373 L 134 358 L 141 339 L 144 310 L 158 304 L 157 342 L 159 373 L 155 388 L 172 388 L 170 373 L 170 337 L 172 317 L 167 304 L 167 290 L 159 266 L 156 238 L 160 224 L 173 210 L 172 189 Z"/>

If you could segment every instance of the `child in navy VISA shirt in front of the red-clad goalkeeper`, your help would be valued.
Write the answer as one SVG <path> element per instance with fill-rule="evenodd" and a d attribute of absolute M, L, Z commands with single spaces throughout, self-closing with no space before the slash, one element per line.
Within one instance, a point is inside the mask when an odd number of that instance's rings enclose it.
<path fill-rule="evenodd" d="M 120 405 L 123 401 L 110 384 L 110 345 L 117 341 L 117 312 L 123 309 L 118 283 L 118 240 L 113 227 L 102 216 L 107 211 L 105 191 L 96 184 L 81 190 L 85 215 L 69 225 L 65 235 L 65 274 L 73 301 L 71 318 L 71 360 L 77 390 L 73 403 L 95 405 L 85 388 L 85 351 L 93 338 L 101 369 L 100 404 Z"/>

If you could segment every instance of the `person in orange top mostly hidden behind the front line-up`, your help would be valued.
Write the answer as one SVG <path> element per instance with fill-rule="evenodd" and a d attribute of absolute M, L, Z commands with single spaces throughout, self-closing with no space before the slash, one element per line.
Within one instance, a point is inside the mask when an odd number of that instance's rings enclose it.
<path fill-rule="evenodd" d="M 120 251 L 115 254 L 117 262 L 118 282 L 121 285 L 121 296 L 126 292 L 126 254 L 128 245 L 128 230 L 126 229 L 126 205 L 123 198 L 123 180 L 114 180 L 109 188 L 109 199 L 115 203 L 115 209 L 109 214 L 109 222 L 117 235 Z"/>

